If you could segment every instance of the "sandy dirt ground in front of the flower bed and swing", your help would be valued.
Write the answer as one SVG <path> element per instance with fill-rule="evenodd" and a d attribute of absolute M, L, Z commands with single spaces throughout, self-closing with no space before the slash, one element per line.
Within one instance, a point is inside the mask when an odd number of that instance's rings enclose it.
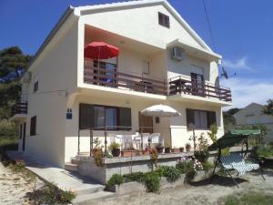
<path fill-rule="evenodd" d="M 266 169 L 264 176 L 266 180 L 256 173 L 240 176 L 237 179 L 239 189 L 230 179 L 216 177 L 212 184 L 205 179 L 186 187 L 162 190 L 160 193 L 122 196 L 113 200 L 101 201 L 96 205 L 220 205 L 228 195 L 236 195 L 240 192 L 261 191 L 273 194 L 273 169 Z"/>

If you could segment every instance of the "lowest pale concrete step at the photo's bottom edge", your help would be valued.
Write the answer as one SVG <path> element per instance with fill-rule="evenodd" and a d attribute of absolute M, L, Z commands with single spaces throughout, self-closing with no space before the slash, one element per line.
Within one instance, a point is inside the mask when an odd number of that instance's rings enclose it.
<path fill-rule="evenodd" d="M 116 197 L 116 193 L 108 191 L 98 191 L 96 193 L 77 195 L 76 199 L 72 200 L 75 205 L 95 204 L 96 201 L 106 200 Z"/>

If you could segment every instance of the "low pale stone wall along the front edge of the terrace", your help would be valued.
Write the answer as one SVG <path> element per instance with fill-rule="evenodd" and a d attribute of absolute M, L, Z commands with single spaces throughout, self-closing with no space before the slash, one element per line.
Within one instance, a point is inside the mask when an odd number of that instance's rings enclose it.
<path fill-rule="evenodd" d="M 176 166 L 177 159 L 185 156 L 192 156 L 193 152 L 159 154 L 158 165 Z M 76 156 L 78 172 L 99 183 L 106 184 L 106 181 L 114 174 L 129 174 L 137 171 L 148 172 L 153 169 L 150 156 L 136 156 L 131 158 L 103 159 L 104 166 L 97 167 L 95 160 L 87 156 Z"/>

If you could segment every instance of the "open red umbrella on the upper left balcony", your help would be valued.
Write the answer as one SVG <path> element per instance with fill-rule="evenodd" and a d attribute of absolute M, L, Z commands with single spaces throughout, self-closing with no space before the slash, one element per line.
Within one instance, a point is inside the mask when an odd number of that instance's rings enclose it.
<path fill-rule="evenodd" d="M 96 60 L 118 56 L 118 53 L 118 47 L 108 45 L 105 42 L 92 42 L 85 46 L 85 57 Z"/>

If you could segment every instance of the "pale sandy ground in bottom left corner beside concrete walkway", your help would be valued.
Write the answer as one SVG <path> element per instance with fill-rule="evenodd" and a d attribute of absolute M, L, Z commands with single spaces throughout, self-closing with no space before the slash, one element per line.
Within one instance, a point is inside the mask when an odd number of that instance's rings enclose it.
<path fill-rule="evenodd" d="M 25 203 L 25 193 L 32 191 L 34 183 L 29 184 L 19 174 L 13 173 L 0 162 L 0 204 L 15 205 Z"/>

